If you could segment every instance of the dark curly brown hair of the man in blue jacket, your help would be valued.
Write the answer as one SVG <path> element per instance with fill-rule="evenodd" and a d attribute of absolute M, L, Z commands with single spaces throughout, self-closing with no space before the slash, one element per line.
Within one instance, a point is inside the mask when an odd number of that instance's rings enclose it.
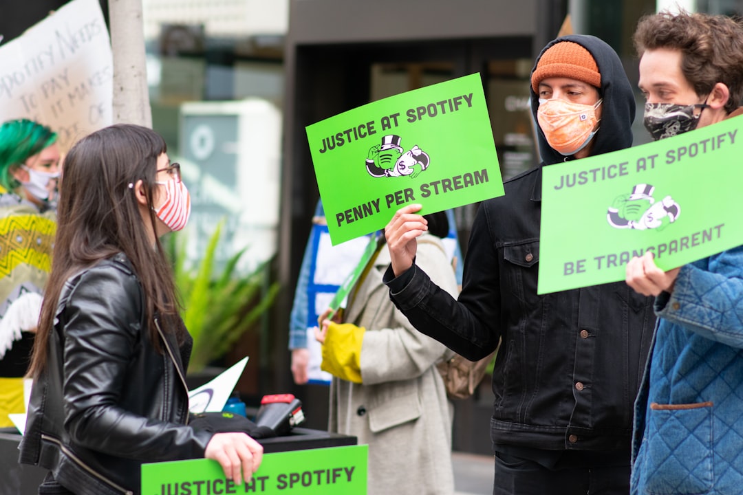
<path fill-rule="evenodd" d="M 730 90 L 725 111 L 743 98 L 743 26 L 739 18 L 705 13 L 661 12 L 644 16 L 633 38 L 637 56 L 646 50 L 681 50 L 681 73 L 698 96 L 722 82 Z"/>

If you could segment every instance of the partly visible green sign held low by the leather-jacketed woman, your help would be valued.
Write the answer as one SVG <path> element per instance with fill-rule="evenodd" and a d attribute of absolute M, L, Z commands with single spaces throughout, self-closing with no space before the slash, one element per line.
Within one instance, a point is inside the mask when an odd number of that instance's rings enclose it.
<path fill-rule="evenodd" d="M 369 445 L 267 453 L 249 483 L 224 479 L 212 459 L 142 465 L 142 495 L 366 494 Z"/>

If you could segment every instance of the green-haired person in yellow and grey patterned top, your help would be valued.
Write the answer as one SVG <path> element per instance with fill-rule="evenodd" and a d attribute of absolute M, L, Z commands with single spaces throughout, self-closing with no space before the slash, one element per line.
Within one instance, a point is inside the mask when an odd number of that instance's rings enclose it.
<path fill-rule="evenodd" d="M 0 427 L 24 413 L 24 380 L 56 233 L 56 133 L 28 119 L 0 125 Z"/>

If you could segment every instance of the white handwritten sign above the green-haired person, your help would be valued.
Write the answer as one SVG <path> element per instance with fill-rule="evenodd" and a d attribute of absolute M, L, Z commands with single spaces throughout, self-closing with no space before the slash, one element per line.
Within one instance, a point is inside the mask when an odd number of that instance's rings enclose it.
<path fill-rule="evenodd" d="M 0 121 L 33 119 L 63 150 L 113 121 L 114 62 L 97 0 L 73 0 L 0 45 Z"/>

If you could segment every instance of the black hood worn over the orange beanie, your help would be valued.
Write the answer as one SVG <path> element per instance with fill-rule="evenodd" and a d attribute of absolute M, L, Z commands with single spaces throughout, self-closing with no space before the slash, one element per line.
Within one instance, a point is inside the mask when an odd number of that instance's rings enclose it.
<path fill-rule="evenodd" d="M 588 53 L 596 60 L 599 73 L 601 74 L 601 97 L 603 98 L 603 107 L 601 113 L 600 128 L 594 136 L 594 147 L 591 155 L 609 153 L 632 146 L 632 122 L 635 120 L 635 95 L 632 93 L 632 86 L 629 85 L 629 79 L 624 72 L 622 62 L 619 56 L 606 42 L 595 36 L 570 35 L 561 36 L 549 42 L 544 47 L 542 53 L 534 63 L 533 73 L 536 64 L 542 58 L 549 47 L 559 42 L 574 42 L 585 47 Z M 529 84 L 531 88 L 531 82 Z M 531 91 L 531 113 L 536 120 L 536 109 L 539 108 L 539 95 Z M 539 153 L 542 155 L 542 162 L 546 165 L 561 163 L 565 157 L 548 145 L 545 140 L 545 134 L 536 125 L 537 139 L 539 140 Z"/>

